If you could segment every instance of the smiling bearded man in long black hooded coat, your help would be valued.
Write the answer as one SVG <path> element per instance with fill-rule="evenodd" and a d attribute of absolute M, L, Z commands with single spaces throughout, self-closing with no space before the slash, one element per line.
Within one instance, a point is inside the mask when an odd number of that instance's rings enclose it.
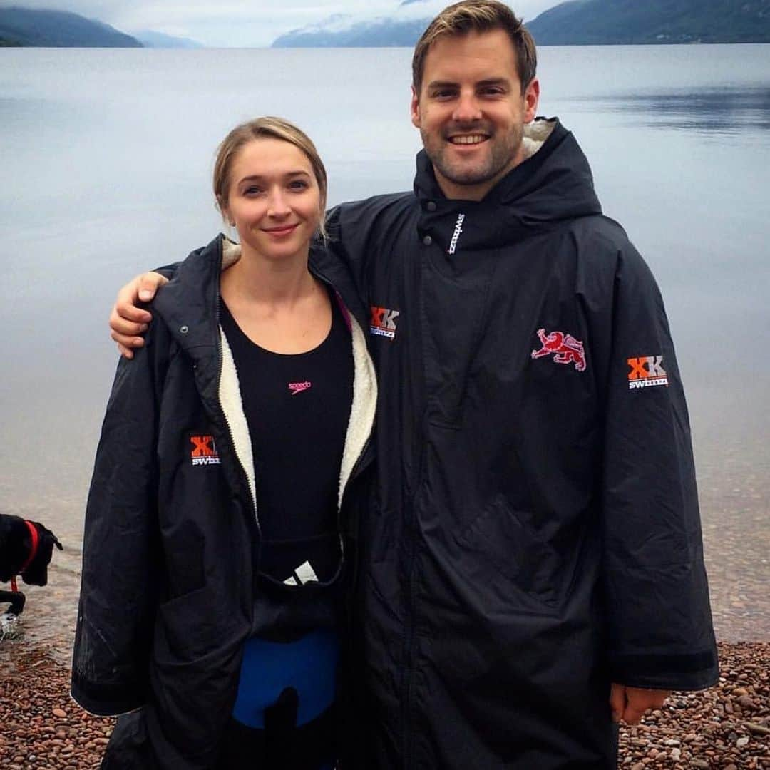
<path fill-rule="evenodd" d="M 330 215 L 323 270 L 370 306 L 380 383 L 353 767 L 612 768 L 614 721 L 718 676 L 661 298 L 534 120 L 535 66 L 507 6 L 444 9 L 413 58 L 414 192 Z"/>

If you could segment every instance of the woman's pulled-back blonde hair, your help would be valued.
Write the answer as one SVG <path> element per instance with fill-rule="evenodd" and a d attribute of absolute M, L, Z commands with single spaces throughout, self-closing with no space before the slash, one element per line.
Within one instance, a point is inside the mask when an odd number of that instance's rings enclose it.
<path fill-rule="evenodd" d="M 224 214 L 227 205 L 227 198 L 230 189 L 230 172 L 233 168 L 233 160 L 240 149 L 252 142 L 254 139 L 280 139 L 282 142 L 289 142 L 297 149 L 302 150 L 306 158 L 310 161 L 313 169 L 313 176 L 316 177 L 319 192 L 319 231 L 320 236 L 326 240 L 325 211 L 326 211 L 326 190 L 328 182 L 326 181 L 326 169 L 323 166 L 316 146 L 313 144 L 310 136 L 293 123 L 283 118 L 275 118 L 266 115 L 263 118 L 249 120 L 236 126 L 223 139 L 216 151 L 216 161 L 214 162 L 213 187 L 214 197 L 219 211 Z"/>

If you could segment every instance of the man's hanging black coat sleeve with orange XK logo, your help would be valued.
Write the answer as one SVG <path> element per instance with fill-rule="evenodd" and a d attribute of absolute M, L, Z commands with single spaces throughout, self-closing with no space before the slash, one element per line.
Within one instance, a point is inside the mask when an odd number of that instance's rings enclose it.
<path fill-rule="evenodd" d="M 613 293 L 602 500 L 611 679 L 701 689 L 718 665 L 688 412 L 658 286 L 630 243 Z"/>

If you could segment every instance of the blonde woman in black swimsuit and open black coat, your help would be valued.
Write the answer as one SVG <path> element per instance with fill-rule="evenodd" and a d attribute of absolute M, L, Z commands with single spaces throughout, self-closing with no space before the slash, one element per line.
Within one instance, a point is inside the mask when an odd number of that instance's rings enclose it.
<path fill-rule="evenodd" d="M 276 118 L 237 126 L 213 181 L 239 245 L 190 254 L 115 377 L 72 695 L 125 714 L 105 768 L 320 770 L 334 760 L 339 511 L 375 377 L 360 326 L 310 272 L 326 206 L 310 139 Z"/>

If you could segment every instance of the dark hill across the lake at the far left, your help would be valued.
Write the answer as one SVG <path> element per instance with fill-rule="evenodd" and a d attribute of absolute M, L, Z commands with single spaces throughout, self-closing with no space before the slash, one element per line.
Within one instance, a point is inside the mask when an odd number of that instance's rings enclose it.
<path fill-rule="evenodd" d="M 142 48 L 136 38 L 95 19 L 15 7 L 0 8 L 0 41 L 46 48 Z"/>

